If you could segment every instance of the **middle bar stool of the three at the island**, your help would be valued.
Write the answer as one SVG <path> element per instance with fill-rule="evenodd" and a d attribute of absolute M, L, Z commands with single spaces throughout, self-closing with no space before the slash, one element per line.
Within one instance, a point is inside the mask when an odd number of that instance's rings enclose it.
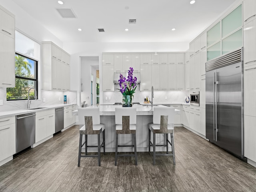
<path fill-rule="evenodd" d="M 137 165 L 137 146 L 136 146 L 136 108 L 116 108 L 116 153 L 115 166 L 117 158 L 120 156 L 134 156 L 135 165 Z M 132 134 L 134 144 L 118 145 L 118 134 Z M 134 147 L 134 154 L 118 154 L 118 147 Z"/>

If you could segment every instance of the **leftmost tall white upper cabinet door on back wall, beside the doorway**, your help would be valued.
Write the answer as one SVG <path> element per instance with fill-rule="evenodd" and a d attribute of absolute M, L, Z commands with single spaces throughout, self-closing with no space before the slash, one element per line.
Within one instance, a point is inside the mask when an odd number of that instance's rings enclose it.
<path fill-rule="evenodd" d="M 102 90 L 114 91 L 114 65 L 102 65 Z"/>

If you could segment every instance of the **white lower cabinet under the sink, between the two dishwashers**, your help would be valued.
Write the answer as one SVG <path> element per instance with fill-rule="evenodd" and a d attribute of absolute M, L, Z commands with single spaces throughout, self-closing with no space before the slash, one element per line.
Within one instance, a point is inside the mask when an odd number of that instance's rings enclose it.
<path fill-rule="evenodd" d="M 36 112 L 36 143 L 54 134 L 55 110 Z"/>

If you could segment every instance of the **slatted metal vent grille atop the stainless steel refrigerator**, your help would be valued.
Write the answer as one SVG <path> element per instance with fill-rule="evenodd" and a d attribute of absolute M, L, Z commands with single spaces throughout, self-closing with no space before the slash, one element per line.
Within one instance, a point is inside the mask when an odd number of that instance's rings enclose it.
<path fill-rule="evenodd" d="M 205 70 L 210 71 L 243 60 L 243 48 L 227 53 L 205 63 Z"/>

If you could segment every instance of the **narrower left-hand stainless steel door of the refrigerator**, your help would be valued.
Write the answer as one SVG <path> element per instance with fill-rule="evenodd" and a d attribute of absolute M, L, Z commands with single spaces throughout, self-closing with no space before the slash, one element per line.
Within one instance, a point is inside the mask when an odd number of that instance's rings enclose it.
<path fill-rule="evenodd" d="M 206 138 L 210 142 L 215 142 L 215 108 L 214 108 L 214 97 L 215 97 L 215 77 L 216 70 L 206 72 Z"/>

